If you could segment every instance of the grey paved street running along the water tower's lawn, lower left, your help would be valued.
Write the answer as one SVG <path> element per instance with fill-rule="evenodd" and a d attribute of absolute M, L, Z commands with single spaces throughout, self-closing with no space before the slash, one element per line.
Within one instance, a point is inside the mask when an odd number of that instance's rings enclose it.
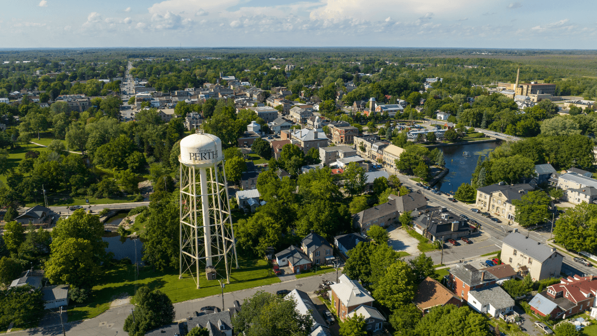
<path fill-rule="evenodd" d="M 224 307 L 232 307 L 233 301 L 238 300 L 242 304 L 242 300 L 244 298 L 248 298 L 251 295 L 255 294 L 257 291 L 266 291 L 270 293 L 275 293 L 280 289 L 288 289 L 289 291 L 293 289 L 300 289 L 301 291 L 310 293 L 315 291 L 318 288 L 319 284 L 323 282 L 323 280 L 336 280 L 336 273 L 328 273 L 327 275 L 320 275 L 320 276 L 311 276 L 308 278 L 302 278 L 297 280 L 290 280 L 281 283 L 275 283 L 269 286 L 262 286 L 260 288 L 251 288 L 245 289 L 244 291 L 232 292 L 232 293 L 224 293 Z M 201 291 L 201 289 L 198 289 Z M 199 311 L 201 307 L 205 306 L 222 306 L 222 299 L 221 295 L 216 295 L 213 297 L 207 298 L 200 298 L 197 300 L 186 301 L 174 304 L 174 310 L 176 311 L 176 320 L 186 319 L 186 317 L 190 316 L 192 312 Z M 103 314 L 94 317 L 93 319 L 85 320 L 85 321 L 78 321 L 78 322 L 71 322 L 66 323 L 64 328 L 66 329 L 66 335 L 70 336 L 104 336 L 104 335 L 126 335 L 126 333 L 122 330 L 122 326 L 124 325 L 124 320 L 131 312 L 131 308 L 133 306 L 130 304 L 124 304 L 122 306 L 113 307 Z M 27 331 L 20 331 L 11 333 L 11 335 L 18 335 L 18 336 L 48 336 L 48 335 L 56 335 L 59 336 L 62 334 L 62 329 L 60 325 L 57 326 L 49 326 L 47 328 L 35 328 L 30 329 Z"/>

